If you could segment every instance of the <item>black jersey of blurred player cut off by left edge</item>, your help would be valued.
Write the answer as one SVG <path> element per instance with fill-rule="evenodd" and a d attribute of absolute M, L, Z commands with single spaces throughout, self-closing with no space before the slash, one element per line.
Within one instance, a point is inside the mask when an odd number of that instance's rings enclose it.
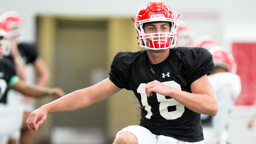
<path fill-rule="evenodd" d="M 10 59 L 0 59 L 0 103 L 6 104 L 7 88 L 12 76 L 15 76 L 15 69 Z"/>

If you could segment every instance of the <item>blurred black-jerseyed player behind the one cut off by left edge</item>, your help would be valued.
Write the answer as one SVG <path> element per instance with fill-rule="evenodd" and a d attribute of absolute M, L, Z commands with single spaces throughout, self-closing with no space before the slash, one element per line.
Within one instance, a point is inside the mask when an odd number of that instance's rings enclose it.
<path fill-rule="evenodd" d="M 34 75 L 31 74 L 28 77 L 28 72 L 31 73 L 31 66 L 36 72 L 37 84 L 45 86 L 49 79 L 49 70 L 45 65 L 42 58 L 39 56 L 39 50 L 36 44 L 24 43 L 22 40 L 25 36 L 24 21 L 20 14 L 15 11 L 9 11 L 2 15 L 4 20 L 4 25 L 8 32 L 8 39 L 12 43 L 11 54 L 8 57 L 12 60 L 17 76 L 22 80 L 26 81 L 28 84 L 34 83 Z M 29 65 L 26 67 L 26 65 Z M 30 68 L 30 69 L 27 69 Z M 8 92 L 8 105 L 20 105 L 24 107 L 25 111 L 31 112 L 35 109 L 35 100 L 32 97 L 22 95 L 19 92 L 9 91 Z M 34 143 L 36 138 L 36 132 L 28 131 L 28 129 L 21 130 L 21 143 Z M 16 137 L 16 136 L 15 136 Z M 16 139 L 16 138 L 13 139 Z M 12 138 L 11 138 L 12 139 Z"/>

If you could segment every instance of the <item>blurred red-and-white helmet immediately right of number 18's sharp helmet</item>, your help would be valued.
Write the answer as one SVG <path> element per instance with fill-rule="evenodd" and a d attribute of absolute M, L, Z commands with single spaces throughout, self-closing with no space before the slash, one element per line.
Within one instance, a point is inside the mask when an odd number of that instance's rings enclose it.
<path fill-rule="evenodd" d="M 175 47 L 192 47 L 195 38 L 196 32 L 191 30 L 184 21 L 179 21 Z"/>

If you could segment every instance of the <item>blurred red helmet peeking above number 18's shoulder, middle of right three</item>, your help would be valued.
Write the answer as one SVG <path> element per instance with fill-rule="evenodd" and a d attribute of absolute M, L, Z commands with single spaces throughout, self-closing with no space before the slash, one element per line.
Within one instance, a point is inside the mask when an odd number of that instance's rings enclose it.
<path fill-rule="evenodd" d="M 202 48 L 209 50 L 210 48 L 217 46 L 217 44 L 214 41 L 214 39 L 212 38 L 212 36 L 202 35 L 202 36 L 198 36 L 194 40 L 193 46 L 194 47 L 202 47 Z"/>

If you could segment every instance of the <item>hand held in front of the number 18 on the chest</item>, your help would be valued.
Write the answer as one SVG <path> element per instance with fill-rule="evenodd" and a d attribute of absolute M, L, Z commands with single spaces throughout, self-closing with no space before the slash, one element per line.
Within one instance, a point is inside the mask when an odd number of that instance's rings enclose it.
<path fill-rule="evenodd" d="M 157 80 L 154 80 L 152 82 L 149 82 L 146 85 L 146 94 L 147 96 L 152 96 L 153 92 L 156 92 L 158 94 L 164 95 L 164 96 L 168 96 L 169 95 L 169 91 L 172 89 L 172 87 L 167 86 Z"/>

